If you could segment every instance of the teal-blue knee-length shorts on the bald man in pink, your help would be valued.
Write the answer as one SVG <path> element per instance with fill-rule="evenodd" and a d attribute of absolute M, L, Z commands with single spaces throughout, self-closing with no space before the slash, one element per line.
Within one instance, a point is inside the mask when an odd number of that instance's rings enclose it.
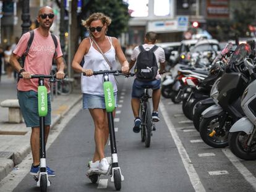
<path fill-rule="evenodd" d="M 20 111 L 27 127 L 39 127 L 38 96 L 36 91 L 18 91 Z M 47 94 L 48 114 L 45 116 L 45 125 L 51 125 L 51 98 Z"/>

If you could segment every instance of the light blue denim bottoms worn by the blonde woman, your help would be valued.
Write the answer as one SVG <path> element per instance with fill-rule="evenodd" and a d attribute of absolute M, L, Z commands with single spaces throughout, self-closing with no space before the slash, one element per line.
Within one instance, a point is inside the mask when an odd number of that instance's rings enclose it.
<path fill-rule="evenodd" d="M 114 93 L 117 107 L 117 93 Z M 83 93 L 83 109 L 106 109 L 104 94 Z"/>

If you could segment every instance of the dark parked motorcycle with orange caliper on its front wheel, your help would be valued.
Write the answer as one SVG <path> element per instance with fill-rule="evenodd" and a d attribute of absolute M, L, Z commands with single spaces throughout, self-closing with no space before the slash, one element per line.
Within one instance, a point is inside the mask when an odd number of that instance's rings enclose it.
<path fill-rule="evenodd" d="M 214 148 L 228 146 L 229 129 L 244 114 L 240 97 L 249 83 L 250 75 L 244 65 L 244 59 L 251 54 L 247 44 L 240 44 L 233 53 L 226 73 L 217 84 L 217 104 L 202 113 L 200 136 L 202 140 Z"/>

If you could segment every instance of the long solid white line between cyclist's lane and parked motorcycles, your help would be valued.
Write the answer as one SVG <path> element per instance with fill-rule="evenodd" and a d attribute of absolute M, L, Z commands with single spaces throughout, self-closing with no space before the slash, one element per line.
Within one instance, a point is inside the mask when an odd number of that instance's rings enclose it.
<path fill-rule="evenodd" d="M 195 171 L 195 168 L 189 159 L 189 155 L 187 154 L 187 151 L 184 148 L 181 139 L 177 135 L 177 131 L 175 130 L 173 123 L 169 119 L 169 114 L 166 112 L 162 102 L 160 102 L 160 110 L 162 112 L 163 119 L 166 122 L 166 125 L 168 126 L 168 129 L 171 133 L 171 136 L 173 137 L 174 143 L 177 146 L 182 162 L 184 164 L 185 169 L 187 170 L 187 174 L 189 175 L 190 182 L 192 183 L 194 190 L 200 192 L 205 191 L 205 188 L 203 187 L 202 182 L 200 181 L 200 178 L 198 177 L 197 172 Z"/>

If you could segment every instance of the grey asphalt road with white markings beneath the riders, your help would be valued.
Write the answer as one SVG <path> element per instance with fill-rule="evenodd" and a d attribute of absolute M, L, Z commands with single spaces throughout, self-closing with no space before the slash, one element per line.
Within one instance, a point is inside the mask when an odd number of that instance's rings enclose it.
<path fill-rule="evenodd" d="M 117 152 L 124 182 L 121 191 L 255 191 L 254 161 L 241 161 L 228 148 L 214 149 L 200 140 L 181 104 L 161 99 L 160 118 L 150 148 L 132 132 L 131 80 L 118 78 L 115 119 Z M 47 151 L 48 165 L 56 171 L 48 191 L 114 191 L 106 176 L 91 183 L 85 177 L 94 151 L 93 122 L 80 110 Z M 109 146 L 106 154 L 110 156 Z M 30 175 L 14 191 L 39 191 Z"/>

